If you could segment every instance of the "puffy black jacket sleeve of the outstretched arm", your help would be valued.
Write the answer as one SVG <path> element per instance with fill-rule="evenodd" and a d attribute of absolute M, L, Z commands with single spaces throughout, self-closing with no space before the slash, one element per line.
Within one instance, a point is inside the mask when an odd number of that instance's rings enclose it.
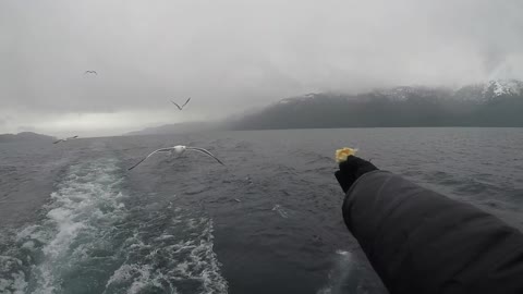
<path fill-rule="evenodd" d="M 523 293 L 523 234 L 472 205 L 374 171 L 343 218 L 392 294 Z"/>

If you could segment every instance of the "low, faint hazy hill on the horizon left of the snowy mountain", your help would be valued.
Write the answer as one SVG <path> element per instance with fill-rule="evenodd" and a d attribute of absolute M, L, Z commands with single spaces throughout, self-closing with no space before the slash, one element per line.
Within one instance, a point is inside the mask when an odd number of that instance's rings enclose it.
<path fill-rule="evenodd" d="M 166 125 L 155 126 L 155 127 L 147 127 L 141 131 L 126 133 L 124 134 L 124 136 L 182 134 L 182 133 L 216 131 L 220 128 L 221 128 L 221 124 L 219 123 L 186 122 L 186 123 L 175 123 L 175 124 L 166 124 Z"/>

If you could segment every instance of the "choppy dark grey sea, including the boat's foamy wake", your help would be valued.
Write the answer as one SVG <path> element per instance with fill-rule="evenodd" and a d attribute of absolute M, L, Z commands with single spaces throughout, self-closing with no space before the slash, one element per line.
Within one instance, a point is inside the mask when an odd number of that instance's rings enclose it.
<path fill-rule="evenodd" d="M 148 151 L 172 145 L 197 154 Z M 386 293 L 333 150 L 523 229 L 523 130 L 223 132 L 0 145 L 0 293 Z"/>

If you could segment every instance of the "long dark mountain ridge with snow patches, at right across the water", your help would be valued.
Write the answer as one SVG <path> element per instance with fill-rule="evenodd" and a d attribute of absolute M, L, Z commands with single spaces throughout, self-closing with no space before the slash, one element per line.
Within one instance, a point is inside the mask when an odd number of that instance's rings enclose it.
<path fill-rule="evenodd" d="M 523 126 L 523 82 L 457 89 L 394 87 L 357 95 L 307 94 L 229 123 L 233 130 L 388 126 Z"/>

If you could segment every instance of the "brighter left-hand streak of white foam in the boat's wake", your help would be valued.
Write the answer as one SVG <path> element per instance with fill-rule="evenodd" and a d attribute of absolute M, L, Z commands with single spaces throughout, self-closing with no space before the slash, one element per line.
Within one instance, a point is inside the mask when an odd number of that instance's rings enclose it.
<path fill-rule="evenodd" d="M 63 272 L 74 268 L 86 254 L 83 243 L 100 240 L 104 226 L 126 213 L 119 189 L 122 177 L 115 163 L 114 159 L 105 159 L 72 166 L 58 191 L 51 194 L 40 228 L 48 232 L 48 240 L 41 248 L 42 262 L 35 269 L 35 294 L 61 292 Z M 38 230 L 36 237 L 41 233 Z"/>

